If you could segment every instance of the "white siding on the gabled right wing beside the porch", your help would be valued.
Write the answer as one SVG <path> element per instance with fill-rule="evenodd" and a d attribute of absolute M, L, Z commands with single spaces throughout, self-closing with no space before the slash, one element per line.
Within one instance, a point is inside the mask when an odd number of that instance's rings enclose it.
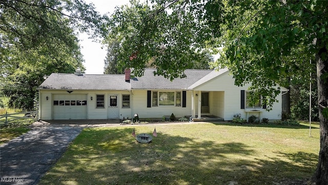
<path fill-rule="evenodd" d="M 247 112 L 245 109 L 240 108 L 240 90 L 248 90 L 248 85 L 244 85 L 242 87 L 238 87 L 235 84 L 235 81 L 232 76 L 229 75 L 229 72 L 223 73 L 217 78 L 214 78 L 207 83 L 204 83 L 194 90 L 202 90 L 202 91 L 224 91 L 224 94 L 218 93 L 218 101 L 221 101 L 224 97 L 224 108 L 217 107 L 218 110 L 213 110 L 213 114 L 224 115 L 224 120 L 232 120 L 233 116 L 236 114 L 240 114 L 242 118 L 247 119 Z M 217 93 L 214 93 L 215 95 Z M 267 112 L 262 109 L 261 118 L 268 118 L 269 120 L 281 119 L 281 94 L 277 96 L 278 103 L 274 103 L 273 110 Z M 216 100 L 213 100 L 216 101 Z M 221 104 L 220 104 L 221 106 Z M 224 109 L 224 114 L 222 114 L 222 109 Z M 258 114 L 259 113 L 254 113 Z M 251 115 L 251 113 L 249 113 Z M 221 117 L 221 116 L 219 116 Z"/>

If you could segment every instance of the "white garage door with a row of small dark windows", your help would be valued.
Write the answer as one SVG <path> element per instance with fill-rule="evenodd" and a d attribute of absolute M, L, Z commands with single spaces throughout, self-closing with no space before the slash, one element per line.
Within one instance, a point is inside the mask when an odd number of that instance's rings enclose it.
<path fill-rule="evenodd" d="M 87 119 L 87 95 L 53 95 L 52 118 Z"/>

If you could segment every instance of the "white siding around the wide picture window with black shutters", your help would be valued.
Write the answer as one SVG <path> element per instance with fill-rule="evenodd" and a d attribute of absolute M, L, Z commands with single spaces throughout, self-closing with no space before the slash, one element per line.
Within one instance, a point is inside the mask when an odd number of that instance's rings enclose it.
<path fill-rule="evenodd" d="M 173 90 L 172 90 L 173 91 Z M 191 91 L 187 91 L 187 107 L 182 106 L 157 106 L 147 107 L 147 90 L 133 90 L 133 114 L 138 114 L 139 118 L 162 118 L 191 116 Z"/>

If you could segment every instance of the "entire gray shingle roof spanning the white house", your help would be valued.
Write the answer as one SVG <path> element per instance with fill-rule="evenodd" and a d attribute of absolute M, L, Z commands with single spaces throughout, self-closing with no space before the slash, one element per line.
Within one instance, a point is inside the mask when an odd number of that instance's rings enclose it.
<path fill-rule="evenodd" d="M 162 76 L 154 76 L 156 69 L 145 69 L 144 76 L 136 77 L 129 82 L 125 75 L 84 75 L 77 76 L 67 73 L 52 73 L 39 89 L 63 90 L 131 90 L 131 89 L 192 89 L 207 82 L 226 69 L 220 71 L 187 69 L 187 78 L 174 79 L 172 82 Z M 133 73 L 133 72 L 132 72 Z"/>

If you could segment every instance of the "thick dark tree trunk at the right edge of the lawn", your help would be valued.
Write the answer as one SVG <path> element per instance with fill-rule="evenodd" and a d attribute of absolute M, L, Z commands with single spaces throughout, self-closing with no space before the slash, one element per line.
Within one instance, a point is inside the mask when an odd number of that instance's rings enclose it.
<path fill-rule="evenodd" d="M 313 176 L 312 182 L 317 185 L 328 184 L 328 119 L 323 117 L 322 114 L 323 108 L 328 107 L 327 53 L 327 49 L 321 48 L 316 54 L 320 120 L 320 152 L 317 170 Z"/>

